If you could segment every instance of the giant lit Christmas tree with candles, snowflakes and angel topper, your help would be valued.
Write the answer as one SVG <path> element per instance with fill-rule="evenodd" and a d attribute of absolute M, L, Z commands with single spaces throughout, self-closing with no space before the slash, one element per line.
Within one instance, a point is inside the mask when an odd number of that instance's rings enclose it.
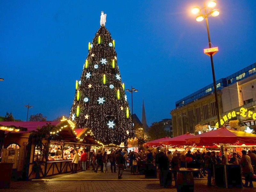
<path fill-rule="evenodd" d="M 80 81 L 76 81 L 70 119 L 77 128 L 89 128 L 104 144 L 119 145 L 133 137 L 134 130 L 117 65 L 115 41 L 105 22 L 102 12 L 101 26 L 88 45 L 84 69 Z"/>

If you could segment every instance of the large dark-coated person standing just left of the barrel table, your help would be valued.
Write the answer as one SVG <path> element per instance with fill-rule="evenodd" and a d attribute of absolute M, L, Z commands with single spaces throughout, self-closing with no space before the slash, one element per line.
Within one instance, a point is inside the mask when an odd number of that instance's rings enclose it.
<path fill-rule="evenodd" d="M 160 153 L 156 155 L 156 165 L 160 171 L 160 184 L 162 183 L 164 188 L 168 187 L 168 172 L 169 172 L 169 160 L 166 154 L 164 153 L 164 149 L 160 149 Z"/>

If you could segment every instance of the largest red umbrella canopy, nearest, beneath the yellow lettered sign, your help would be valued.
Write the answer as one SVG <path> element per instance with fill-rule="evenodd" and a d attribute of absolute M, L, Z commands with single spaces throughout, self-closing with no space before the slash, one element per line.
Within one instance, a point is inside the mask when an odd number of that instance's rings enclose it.
<path fill-rule="evenodd" d="M 229 144 L 242 145 L 246 143 L 256 144 L 256 135 L 234 129 L 221 127 L 219 129 L 205 132 L 195 137 L 186 139 L 188 144 L 212 145 Z"/>

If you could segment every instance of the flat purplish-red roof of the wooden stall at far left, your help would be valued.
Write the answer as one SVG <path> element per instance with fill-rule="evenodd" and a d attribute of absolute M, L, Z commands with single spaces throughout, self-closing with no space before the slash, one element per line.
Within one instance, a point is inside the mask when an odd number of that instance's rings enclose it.
<path fill-rule="evenodd" d="M 59 123 L 61 123 L 61 121 L 3 121 L 3 122 L 0 122 L 0 126 L 1 125 L 15 126 L 17 128 L 25 127 L 28 129 L 27 131 L 12 132 L 12 133 L 29 133 L 31 131 L 35 131 L 38 127 L 41 128 L 46 124 L 57 125 Z"/>

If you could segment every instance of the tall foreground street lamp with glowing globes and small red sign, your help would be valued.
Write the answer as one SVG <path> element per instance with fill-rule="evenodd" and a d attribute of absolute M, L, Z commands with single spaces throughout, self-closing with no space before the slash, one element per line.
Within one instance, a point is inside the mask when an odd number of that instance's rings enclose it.
<path fill-rule="evenodd" d="M 208 26 L 208 17 L 216 17 L 220 14 L 220 11 L 217 9 L 213 9 L 217 5 L 216 1 L 210 1 L 207 6 L 200 8 L 198 6 L 192 8 L 192 13 L 198 14 L 196 17 L 196 21 L 202 21 L 205 19 L 206 21 L 206 28 L 207 28 L 207 35 L 208 35 L 208 42 L 209 42 L 209 48 L 212 48 L 211 45 L 211 39 L 210 39 L 210 33 L 209 33 L 209 26 Z M 217 88 L 216 88 L 216 80 L 215 80 L 215 73 L 214 73 L 214 65 L 213 65 L 213 54 L 216 53 L 216 50 L 213 52 L 211 49 L 209 49 L 209 52 L 206 53 L 210 55 L 211 57 L 211 64 L 212 64 L 212 78 L 213 78 L 213 88 L 214 88 L 214 94 L 215 94 L 215 107 L 217 112 L 217 118 L 218 118 L 218 127 L 220 127 L 220 110 L 219 110 L 219 104 L 218 104 L 218 97 L 217 97 Z M 217 126 L 216 126 L 217 127 Z"/>

